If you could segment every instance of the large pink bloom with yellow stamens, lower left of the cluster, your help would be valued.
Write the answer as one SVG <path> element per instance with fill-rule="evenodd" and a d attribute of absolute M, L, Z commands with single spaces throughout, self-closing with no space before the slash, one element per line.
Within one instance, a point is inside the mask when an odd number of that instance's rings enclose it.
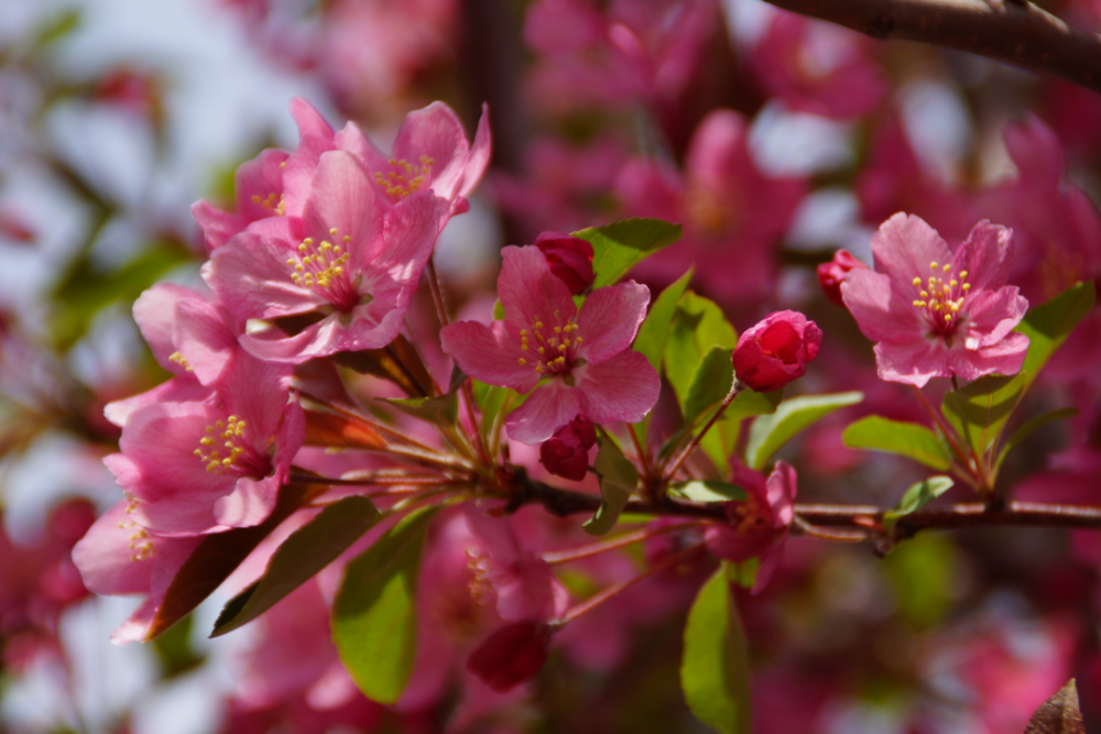
<path fill-rule="evenodd" d="M 129 517 L 163 536 L 263 522 L 305 435 L 290 379 L 288 366 L 239 352 L 208 399 L 130 414 L 122 452 L 103 460 Z"/>

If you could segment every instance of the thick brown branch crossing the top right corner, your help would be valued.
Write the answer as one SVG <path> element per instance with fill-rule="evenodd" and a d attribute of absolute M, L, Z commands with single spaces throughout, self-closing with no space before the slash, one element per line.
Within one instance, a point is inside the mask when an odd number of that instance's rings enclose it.
<path fill-rule="evenodd" d="M 767 0 L 874 39 L 918 41 L 1053 74 L 1101 92 L 1101 36 L 1026 2 Z"/>

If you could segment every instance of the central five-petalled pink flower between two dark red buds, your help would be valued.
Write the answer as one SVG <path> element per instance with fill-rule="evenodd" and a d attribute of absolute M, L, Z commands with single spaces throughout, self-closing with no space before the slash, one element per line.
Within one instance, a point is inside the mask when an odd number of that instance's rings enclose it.
<path fill-rule="evenodd" d="M 539 443 L 578 413 L 596 424 L 642 420 L 661 388 L 654 368 L 631 349 L 650 289 L 633 281 L 597 288 L 578 311 L 538 248 L 510 245 L 502 254 L 504 320 L 453 324 L 439 338 L 476 380 L 519 393 L 538 386 L 509 416 L 509 436 Z"/>

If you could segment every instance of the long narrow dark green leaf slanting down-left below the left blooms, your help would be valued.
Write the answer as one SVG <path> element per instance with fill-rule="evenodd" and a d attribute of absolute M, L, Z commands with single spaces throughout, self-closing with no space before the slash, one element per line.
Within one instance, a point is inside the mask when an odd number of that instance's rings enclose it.
<path fill-rule="evenodd" d="M 378 521 L 379 511 L 364 496 L 345 497 L 323 510 L 283 541 L 255 583 L 226 604 L 210 636 L 232 632 L 270 610 L 335 561 Z"/>

